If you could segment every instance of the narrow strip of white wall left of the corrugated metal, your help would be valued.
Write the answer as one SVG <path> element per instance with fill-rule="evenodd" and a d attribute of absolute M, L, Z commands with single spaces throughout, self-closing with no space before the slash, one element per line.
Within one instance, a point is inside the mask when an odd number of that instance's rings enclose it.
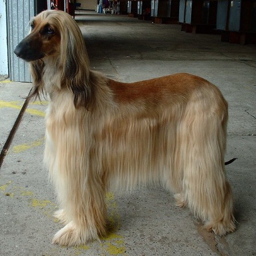
<path fill-rule="evenodd" d="M 6 0 L 0 0 L 0 75 L 8 75 Z"/>

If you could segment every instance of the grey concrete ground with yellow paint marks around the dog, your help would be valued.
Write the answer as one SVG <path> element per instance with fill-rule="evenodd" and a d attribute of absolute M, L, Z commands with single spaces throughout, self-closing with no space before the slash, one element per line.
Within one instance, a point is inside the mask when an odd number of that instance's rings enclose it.
<path fill-rule="evenodd" d="M 28 105 L 0 170 L 0 255 L 256 255 L 256 47 L 221 43 L 219 35 L 185 34 L 177 24 L 126 16 L 76 16 L 92 69 L 119 81 L 188 72 L 216 84 L 229 102 L 226 167 L 233 187 L 237 230 L 206 232 L 162 188 L 107 194 L 108 237 L 80 247 L 51 244 L 62 225 L 52 184 L 42 166 L 47 101 Z M 0 143 L 17 117 L 30 84 L 0 82 Z"/>

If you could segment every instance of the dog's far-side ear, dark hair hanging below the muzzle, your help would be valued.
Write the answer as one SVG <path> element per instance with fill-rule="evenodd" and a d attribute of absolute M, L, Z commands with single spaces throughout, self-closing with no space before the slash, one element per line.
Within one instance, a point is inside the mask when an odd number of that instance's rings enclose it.
<path fill-rule="evenodd" d="M 45 96 L 42 80 L 44 63 L 42 60 L 30 61 L 29 67 L 32 76 L 33 87 L 28 97 L 34 98 L 34 100 L 39 98 L 40 100 L 40 93 Z"/>

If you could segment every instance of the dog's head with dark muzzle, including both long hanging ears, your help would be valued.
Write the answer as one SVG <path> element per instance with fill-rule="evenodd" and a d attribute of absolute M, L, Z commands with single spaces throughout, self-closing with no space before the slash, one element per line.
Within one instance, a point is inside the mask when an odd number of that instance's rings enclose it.
<path fill-rule="evenodd" d="M 84 38 L 72 16 L 64 11 L 43 11 L 30 20 L 30 27 L 30 33 L 16 46 L 14 53 L 30 62 L 35 88 L 32 96 L 39 96 L 44 90 L 43 69 L 51 63 L 57 81 L 55 86 L 71 88 L 75 105 L 86 101 L 83 95 L 88 93 L 85 86 L 89 79 L 89 59 Z"/>

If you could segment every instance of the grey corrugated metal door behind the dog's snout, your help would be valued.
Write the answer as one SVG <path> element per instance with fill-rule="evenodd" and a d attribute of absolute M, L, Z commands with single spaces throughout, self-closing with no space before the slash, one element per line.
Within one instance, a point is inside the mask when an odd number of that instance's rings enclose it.
<path fill-rule="evenodd" d="M 11 81 L 30 82 L 28 63 L 13 53 L 16 45 L 28 34 L 28 22 L 35 15 L 35 0 L 7 1 L 9 75 Z"/>

